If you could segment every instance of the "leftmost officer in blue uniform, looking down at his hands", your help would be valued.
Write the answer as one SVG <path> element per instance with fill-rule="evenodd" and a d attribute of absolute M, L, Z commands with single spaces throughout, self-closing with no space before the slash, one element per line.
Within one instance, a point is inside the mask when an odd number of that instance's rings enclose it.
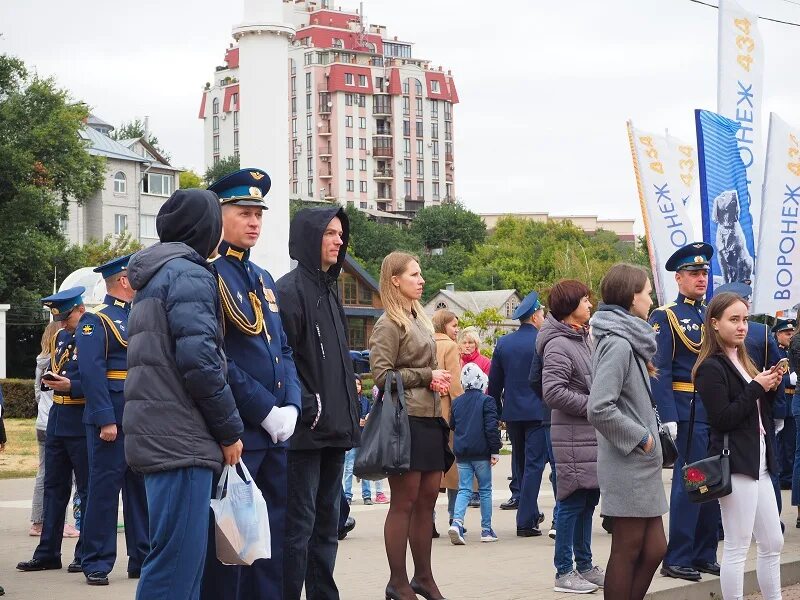
<path fill-rule="evenodd" d="M 84 399 L 78 371 L 75 330 L 85 312 L 84 287 L 74 287 L 42 298 L 59 329 L 50 343 L 50 370 L 42 376 L 42 385 L 54 390 L 53 406 L 47 421 L 44 450 L 44 522 L 42 537 L 33 558 L 17 564 L 20 571 L 60 569 L 64 514 L 72 491 L 72 473 L 81 506 L 86 506 L 89 459 L 86 453 L 86 429 L 83 426 Z M 75 546 L 75 559 L 67 567 L 70 573 L 81 572 L 83 533 Z"/>

